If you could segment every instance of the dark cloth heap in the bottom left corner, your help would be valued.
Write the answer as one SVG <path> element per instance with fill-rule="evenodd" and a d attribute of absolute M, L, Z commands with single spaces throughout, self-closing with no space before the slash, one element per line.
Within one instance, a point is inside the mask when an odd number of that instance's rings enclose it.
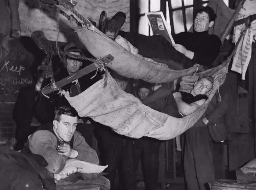
<path fill-rule="evenodd" d="M 41 155 L 22 154 L 9 147 L 0 148 L 1 190 L 55 190 L 53 174 L 44 167 Z"/>

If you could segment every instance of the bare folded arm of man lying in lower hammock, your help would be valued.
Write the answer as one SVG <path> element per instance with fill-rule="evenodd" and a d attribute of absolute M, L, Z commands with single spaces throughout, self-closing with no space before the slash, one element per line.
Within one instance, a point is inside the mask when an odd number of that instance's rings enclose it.
<path fill-rule="evenodd" d="M 179 92 L 174 93 L 173 96 L 175 98 L 175 102 L 177 104 L 178 110 L 181 112 L 181 114 L 183 114 L 185 116 L 196 111 L 205 102 L 205 100 L 202 99 L 202 100 L 198 100 L 197 102 L 188 104 L 188 103 L 185 103 L 182 101 L 182 99 L 181 99 L 182 97 Z"/>

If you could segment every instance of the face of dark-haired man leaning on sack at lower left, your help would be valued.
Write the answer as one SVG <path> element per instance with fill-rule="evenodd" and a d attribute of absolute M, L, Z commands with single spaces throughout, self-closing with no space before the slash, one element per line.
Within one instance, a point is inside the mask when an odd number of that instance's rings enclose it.
<path fill-rule="evenodd" d="M 78 117 L 61 115 L 60 121 L 53 120 L 53 127 L 60 140 L 69 142 L 76 131 Z"/>

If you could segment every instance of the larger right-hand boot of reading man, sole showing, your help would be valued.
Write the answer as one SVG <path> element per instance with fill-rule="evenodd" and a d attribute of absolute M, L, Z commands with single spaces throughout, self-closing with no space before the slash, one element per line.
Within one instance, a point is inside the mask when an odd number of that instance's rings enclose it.
<path fill-rule="evenodd" d="M 112 40 L 116 39 L 121 27 L 125 23 L 126 15 L 123 12 L 117 12 L 108 22 L 106 36 Z"/>

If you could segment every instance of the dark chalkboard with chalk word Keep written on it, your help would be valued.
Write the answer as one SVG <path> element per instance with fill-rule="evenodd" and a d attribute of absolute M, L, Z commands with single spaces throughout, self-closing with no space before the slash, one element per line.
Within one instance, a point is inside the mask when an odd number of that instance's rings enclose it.
<path fill-rule="evenodd" d="M 8 41 L 9 53 L 0 58 L 0 101 L 15 102 L 20 88 L 32 84 L 31 65 L 35 56 L 23 45 L 37 48 L 35 44 L 29 45 L 31 40 L 27 37 Z"/>

